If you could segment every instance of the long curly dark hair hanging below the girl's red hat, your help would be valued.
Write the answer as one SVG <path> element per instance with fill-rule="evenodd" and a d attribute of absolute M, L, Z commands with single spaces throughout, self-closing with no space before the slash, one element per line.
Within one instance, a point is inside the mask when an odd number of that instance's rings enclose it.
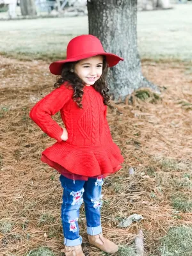
<path fill-rule="evenodd" d="M 68 62 L 63 65 L 63 69 L 61 72 L 61 76 L 58 76 L 56 83 L 54 84 L 55 88 L 59 88 L 61 84 L 64 82 L 68 82 L 74 90 L 74 94 L 72 99 L 77 103 L 77 106 L 79 108 L 83 108 L 83 105 L 81 103 L 83 99 L 83 88 L 85 86 L 84 81 L 77 76 L 75 72 L 72 72 L 71 70 L 74 70 L 74 67 L 76 63 L 79 61 L 74 61 L 74 62 Z M 105 105 L 109 105 L 109 88 L 108 84 L 106 83 L 106 77 L 108 74 L 108 63 L 106 61 L 106 56 L 103 56 L 103 66 L 102 66 L 102 75 L 100 78 L 93 84 L 93 88 L 97 92 L 100 93 L 103 97 L 103 102 Z"/>

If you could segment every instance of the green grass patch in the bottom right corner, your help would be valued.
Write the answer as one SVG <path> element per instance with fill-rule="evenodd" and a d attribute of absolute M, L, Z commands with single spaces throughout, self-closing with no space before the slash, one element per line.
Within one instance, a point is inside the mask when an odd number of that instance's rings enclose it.
<path fill-rule="evenodd" d="M 173 227 L 161 239 L 161 256 L 191 256 L 192 228 Z"/>

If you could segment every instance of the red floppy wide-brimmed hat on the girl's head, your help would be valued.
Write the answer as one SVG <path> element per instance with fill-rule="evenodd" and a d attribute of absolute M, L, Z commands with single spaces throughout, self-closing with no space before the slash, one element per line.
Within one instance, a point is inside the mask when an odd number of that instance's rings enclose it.
<path fill-rule="evenodd" d="M 54 61 L 49 66 L 52 74 L 60 75 L 64 63 L 83 60 L 96 55 L 106 56 L 109 67 L 115 66 L 118 61 L 124 60 L 119 56 L 105 52 L 100 40 L 93 35 L 76 36 L 67 45 L 67 59 Z"/>

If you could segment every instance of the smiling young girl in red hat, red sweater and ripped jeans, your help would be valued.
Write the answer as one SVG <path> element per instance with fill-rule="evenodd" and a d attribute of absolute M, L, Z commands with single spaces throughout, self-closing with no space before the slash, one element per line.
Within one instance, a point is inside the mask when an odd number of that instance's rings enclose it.
<path fill-rule="evenodd" d="M 51 63 L 50 71 L 61 75 L 49 95 L 31 109 L 30 117 L 54 145 L 42 152 L 42 161 L 56 169 L 63 187 L 61 220 L 65 255 L 82 256 L 77 220 L 84 201 L 88 240 L 107 253 L 118 246 L 102 236 L 100 207 L 103 179 L 122 167 L 124 158 L 113 142 L 106 119 L 109 102 L 106 75 L 122 58 L 106 53 L 92 35 L 73 38 L 67 59 Z M 65 128 L 51 116 L 60 111 Z"/>

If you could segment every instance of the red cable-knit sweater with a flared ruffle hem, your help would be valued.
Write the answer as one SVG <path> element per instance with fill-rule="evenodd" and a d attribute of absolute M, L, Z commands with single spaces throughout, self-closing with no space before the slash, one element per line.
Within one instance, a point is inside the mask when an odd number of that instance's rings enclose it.
<path fill-rule="evenodd" d="M 42 152 L 42 161 L 69 179 L 109 175 L 120 170 L 124 158 L 111 138 L 106 119 L 107 107 L 93 86 L 84 86 L 83 109 L 72 99 L 73 90 L 66 84 L 53 90 L 30 111 L 31 119 L 58 142 Z M 68 132 L 62 141 L 63 129 L 51 116 L 60 111 Z"/>

